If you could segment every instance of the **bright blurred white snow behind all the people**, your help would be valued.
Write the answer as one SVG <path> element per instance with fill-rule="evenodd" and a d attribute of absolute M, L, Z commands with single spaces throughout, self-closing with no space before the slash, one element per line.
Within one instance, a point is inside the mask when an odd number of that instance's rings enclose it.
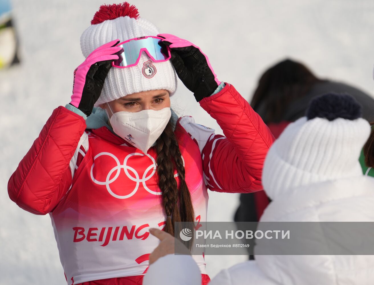
<path fill-rule="evenodd" d="M 1 0 L 0 0 L 1 1 Z M 13 0 L 22 64 L 0 70 L 0 284 L 66 284 L 48 215 L 10 201 L 7 182 L 52 110 L 70 102 L 79 39 L 102 0 Z M 105 2 L 112 3 L 112 2 Z M 116 2 L 116 3 L 119 3 Z M 162 33 L 188 39 L 209 56 L 218 79 L 250 99 L 258 77 L 290 56 L 320 77 L 373 91 L 372 0 L 132 0 Z M 181 82 L 172 104 L 221 133 Z M 209 193 L 208 221 L 232 221 L 238 194 Z M 213 278 L 247 256 L 206 256 Z"/>

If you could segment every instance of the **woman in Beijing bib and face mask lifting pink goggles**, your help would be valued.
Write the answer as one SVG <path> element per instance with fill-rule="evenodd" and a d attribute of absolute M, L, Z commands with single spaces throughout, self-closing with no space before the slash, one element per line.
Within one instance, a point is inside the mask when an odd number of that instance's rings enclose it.
<path fill-rule="evenodd" d="M 274 138 L 199 47 L 159 34 L 136 7 L 102 5 L 91 24 L 71 102 L 53 110 L 8 192 L 49 213 L 69 285 L 141 285 L 158 244 L 148 229 L 206 221 L 207 188 L 261 190 Z M 172 112 L 175 72 L 226 137 Z M 207 284 L 204 252 L 194 254 Z"/>

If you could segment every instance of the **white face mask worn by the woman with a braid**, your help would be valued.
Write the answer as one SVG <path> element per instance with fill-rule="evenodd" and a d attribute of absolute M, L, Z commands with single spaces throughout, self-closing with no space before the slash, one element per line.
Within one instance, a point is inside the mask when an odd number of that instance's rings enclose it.
<path fill-rule="evenodd" d="M 120 111 L 113 113 L 108 103 L 107 105 L 112 113 L 109 121 L 113 131 L 145 154 L 160 137 L 171 117 L 170 107 L 158 111 L 142 110 L 139 112 Z"/>

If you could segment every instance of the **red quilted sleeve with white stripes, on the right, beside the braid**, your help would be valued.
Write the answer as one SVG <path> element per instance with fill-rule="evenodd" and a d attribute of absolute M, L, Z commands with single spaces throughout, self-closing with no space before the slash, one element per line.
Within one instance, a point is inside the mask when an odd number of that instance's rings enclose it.
<path fill-rule="evenodd" d="M 209 188 L 219 192 L 262 190 L 261 174 L 274 141 L 269 128 L 249 103 L 226 83 L 223 90 L 200 101 L 224 135 L 211 135 L 202 151 Z"/>

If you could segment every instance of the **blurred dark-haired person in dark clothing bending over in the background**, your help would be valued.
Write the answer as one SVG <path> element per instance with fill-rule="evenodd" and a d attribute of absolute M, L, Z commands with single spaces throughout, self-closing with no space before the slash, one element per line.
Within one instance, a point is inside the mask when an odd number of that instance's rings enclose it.
<path fill-rule="evenodd" d="M 362 117 L 369 122 L 374 119 L 374 99 L 370 95 L 342 82 L 320 79 L 304 64 L 292 59 L 273 65 L 261 75 L 251 106 L 278 138 L 290 122 L 305 115 L 313 98 L 327 92 L 352 95 L 363 106 Z M 264 191 L 240 194 L 234 220 L 258 221 L 269 202 Z"/>

